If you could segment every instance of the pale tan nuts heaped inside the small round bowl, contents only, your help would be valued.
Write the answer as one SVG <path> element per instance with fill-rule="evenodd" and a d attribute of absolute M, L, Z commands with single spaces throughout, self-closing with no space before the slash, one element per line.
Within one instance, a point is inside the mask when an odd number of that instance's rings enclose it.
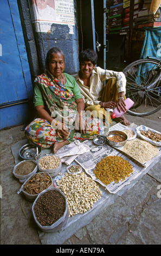
<path fill-rule="evenodd" d="M 60 158 L 54 155 L 43 156 L 38 161 L 38 165 L 43 170 L 56 169 L 57 167 L 59 167 L 59 164 L 60 164 Z"/>

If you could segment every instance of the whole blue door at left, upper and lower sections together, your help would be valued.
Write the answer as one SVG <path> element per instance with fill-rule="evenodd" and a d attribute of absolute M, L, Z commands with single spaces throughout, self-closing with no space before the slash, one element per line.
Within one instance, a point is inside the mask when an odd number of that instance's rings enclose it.
<path fill-rule="evenodd" d="M 0 22 L 0 129 L 3 129 L 24 123 L 33 85 L 15 0 L 1 1 Z"/>

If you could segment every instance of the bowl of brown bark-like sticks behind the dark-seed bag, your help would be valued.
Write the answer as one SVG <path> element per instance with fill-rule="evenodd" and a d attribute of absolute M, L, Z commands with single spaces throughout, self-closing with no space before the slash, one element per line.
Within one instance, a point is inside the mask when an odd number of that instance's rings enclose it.
<path fill-rule="evenodd" d="M 48 173 L 35 173 L 24 182 L 21 189 L 25 198 L 33 202 L 38 194 L 50 187 L 54 187 L 54 185 L 53 179 Z"/>

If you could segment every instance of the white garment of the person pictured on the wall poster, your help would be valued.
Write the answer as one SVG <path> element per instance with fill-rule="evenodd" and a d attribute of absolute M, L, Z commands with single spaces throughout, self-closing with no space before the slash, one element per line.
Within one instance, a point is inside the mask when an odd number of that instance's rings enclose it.
<path fill-rule="evenodd" d="M 47 7 L 45 9 L 40 9 L 37 7 L 37 5 L 34 3 L 31 5 L 31 15 L 33 22 L 37 21 L 43 21 L 43 22 L 54 22 L 56 21 L 56 12 L 54 8 L 50 7 L 47 4 Z"/>

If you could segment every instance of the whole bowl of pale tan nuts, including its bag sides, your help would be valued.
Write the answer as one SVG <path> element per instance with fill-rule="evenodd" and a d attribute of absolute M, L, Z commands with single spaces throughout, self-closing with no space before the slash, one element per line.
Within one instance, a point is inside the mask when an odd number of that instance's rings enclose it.
<path fill-rule="evenodd" d="M 38 169 L 40 172 L 46 172 L 51 175 L 51 177 L 56 176 L 61 170 L 61 160 L 55 155 L 46 155 L 38 160 Z"/>

